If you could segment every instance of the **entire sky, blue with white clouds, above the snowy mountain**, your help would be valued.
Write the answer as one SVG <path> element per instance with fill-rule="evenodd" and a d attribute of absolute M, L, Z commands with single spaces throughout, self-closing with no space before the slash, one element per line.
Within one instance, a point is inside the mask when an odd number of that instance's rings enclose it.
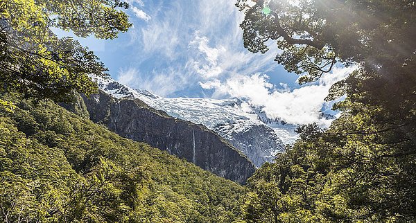
<path fill-rule="evenodd" d="M 300 86 L 297 75 L 265 53 L 243 46 L 243 12 L 234 0 L 128 0 L 133 27 L 112 40 L 81 44 L 101 58 L 114 80 L 159 96 L 246 98 L 270 117 L 290 123 L 319 121 L 331 84 L 351 68 L 337 68 L 320 81 Z"/>

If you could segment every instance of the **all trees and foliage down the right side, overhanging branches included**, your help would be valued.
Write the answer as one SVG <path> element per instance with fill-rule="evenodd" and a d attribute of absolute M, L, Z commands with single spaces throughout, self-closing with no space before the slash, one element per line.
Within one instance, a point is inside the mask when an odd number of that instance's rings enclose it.
<path fill-rule="evenodd" d="M 415 1 L 239 0 L 245 46 L 317 80 L 336 63 L 359 65 L 333 85 L 343 111 L 249 180 L 248 222 L 416 221 Z M 264 10 L 264 9 L 268 10 Z M 263 9 L 263 10 L 262 10 Z"/>

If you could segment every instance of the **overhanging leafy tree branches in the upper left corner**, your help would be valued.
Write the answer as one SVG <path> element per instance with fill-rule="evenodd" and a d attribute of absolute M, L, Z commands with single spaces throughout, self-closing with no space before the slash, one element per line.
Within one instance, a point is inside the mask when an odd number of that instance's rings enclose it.
<path fill-rule="evenodd" d="M 88 75 L 106 76 L 98 57 L 71 37 L 58 38 L 51 28 L 78 37 L 113 39 L 131 26 L 120 0 L 0 1 L 1 92 L 66 100 L 73 91 L 92 93 Z"/>

